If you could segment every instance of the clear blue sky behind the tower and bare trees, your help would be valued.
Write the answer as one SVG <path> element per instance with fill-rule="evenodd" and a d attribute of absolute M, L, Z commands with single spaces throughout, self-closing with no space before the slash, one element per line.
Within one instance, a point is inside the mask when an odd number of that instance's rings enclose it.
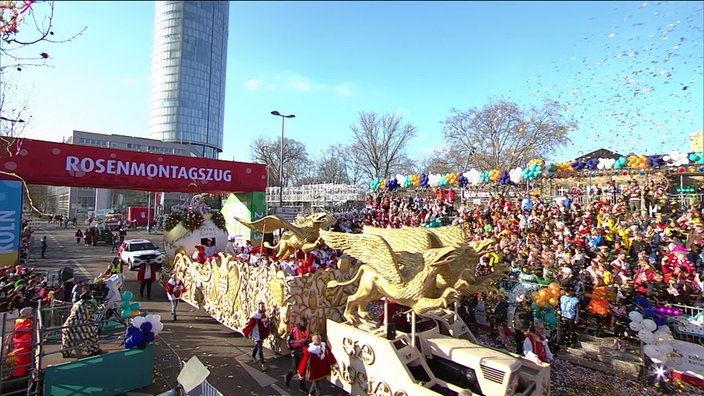
<path fill-rule="evenodd" d="M 704 2 L 232 2 L 224 152 L 286 137 L 309 154 L 351 142 L 360 111 L 414 124 L 412 157 L 443 144 L 452 107 L 550 97 L 580 121 L 561 162 L 601 147 L 689 150 L 704 129 Z M 48 67 L 19 74 L 23 136 L 147 135 L 153 2 L 56 2 Z M 3 61 L 3 63 L 6 61 Z M 686 88 L 685 88 L 686 87 Z M 457 170 L 461 171 L 461 170 Z"/>

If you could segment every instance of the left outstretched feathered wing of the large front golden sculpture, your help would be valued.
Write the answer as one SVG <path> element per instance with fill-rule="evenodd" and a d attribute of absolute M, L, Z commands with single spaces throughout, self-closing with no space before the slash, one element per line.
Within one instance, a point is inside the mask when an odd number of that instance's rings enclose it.
<path fill-rule="evenodd" d="M 342 250 L 374 268 L 388 282 L 404 283 L 391 246 L 381 236 L 320 230 L 320 237 L 331 248 Z"/>

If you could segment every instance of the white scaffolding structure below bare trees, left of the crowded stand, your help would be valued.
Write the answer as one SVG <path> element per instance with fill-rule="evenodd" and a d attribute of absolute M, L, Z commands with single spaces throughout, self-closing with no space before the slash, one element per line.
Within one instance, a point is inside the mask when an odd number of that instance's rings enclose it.
<path fill-rule="evenodd" d="M 340 212 L 364 206 L 368 193 L 367 188 L 352 184 L 306 184 L 284 187 L 282 200 L 284 207 L 298 208 L 302 212 L 321 209 Z M 279 206 L 279 194 L 279 187 L 267 187 L 268 208 Z"/>

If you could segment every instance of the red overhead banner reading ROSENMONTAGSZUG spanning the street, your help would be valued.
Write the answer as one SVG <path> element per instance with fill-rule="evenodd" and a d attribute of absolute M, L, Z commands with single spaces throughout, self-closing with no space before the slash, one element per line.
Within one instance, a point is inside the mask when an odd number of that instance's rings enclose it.
<path fill-rule="evenodd" d="M 266 165 L 0 138 L 0 178 L 29 184 L 140 191 L 266 191 Z"/>

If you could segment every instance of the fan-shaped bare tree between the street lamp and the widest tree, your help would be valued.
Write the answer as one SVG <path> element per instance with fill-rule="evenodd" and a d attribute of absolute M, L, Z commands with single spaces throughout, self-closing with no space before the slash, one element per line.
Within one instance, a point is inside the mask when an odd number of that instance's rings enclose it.
<path fill-rule="evenodd" d="M 354 141 L 353 161 L 370 179 L 388 177 L 405 153 L 406 145 L 415 137 L 416 127 L 401 124 L 401 116 L 387 113 L 360 112 L 359 125 L 351 125 Z"/>

